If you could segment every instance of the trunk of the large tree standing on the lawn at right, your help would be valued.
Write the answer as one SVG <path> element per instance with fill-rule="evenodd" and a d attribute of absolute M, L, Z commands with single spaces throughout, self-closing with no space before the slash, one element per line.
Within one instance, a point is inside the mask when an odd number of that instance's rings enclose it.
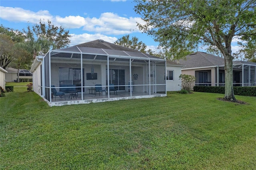
<path fill-rule="evenodd" d="M 225 59 L 225 96 L 224 99 L 235 102 L 233 89 L 233 57 L 232 55 L 224 56 Z"/>

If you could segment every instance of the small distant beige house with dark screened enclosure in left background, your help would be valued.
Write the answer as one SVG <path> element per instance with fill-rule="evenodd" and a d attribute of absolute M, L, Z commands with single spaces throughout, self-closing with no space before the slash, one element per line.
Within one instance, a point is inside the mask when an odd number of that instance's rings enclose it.
<path fill-rule="evenodd" d="M 6 68 L 6 82 L 15 82 L 18 79 L 18 69 L 14 69 L 12 67 Z M 32 73 L 26 69 L 19 70 L 19 78 L 20 79 L 32 79 Z"/>

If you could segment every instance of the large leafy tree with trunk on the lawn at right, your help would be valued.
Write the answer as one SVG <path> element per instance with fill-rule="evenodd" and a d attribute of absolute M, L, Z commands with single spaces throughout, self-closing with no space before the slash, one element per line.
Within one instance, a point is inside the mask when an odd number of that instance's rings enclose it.
<path fill-rule="evenodd" d="M 198 46 L 219 51 L 225 61 L 224 99 L 233 91 L 234 38 L 256 35 L 255 0 L 135 0 L 135 11 L 146 24 L 139 28 L 154 37 L 169 57 L 181 58 Z M 167 57 L 168 57 L 167 56 Z"/>

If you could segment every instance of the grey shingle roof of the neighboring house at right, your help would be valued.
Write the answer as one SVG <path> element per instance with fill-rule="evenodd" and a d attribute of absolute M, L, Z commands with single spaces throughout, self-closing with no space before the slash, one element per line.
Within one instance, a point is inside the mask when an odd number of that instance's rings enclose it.
<path fill-rule="evenodd" d="M 211 66 L 224 66 L 224 58 L 216 55 L 197 51 L 186 56 L 186 59 L 180 59 L 179 63 L 186 65 L 186 68 L 197 68 L 197 67 L 211 67 Z"/>

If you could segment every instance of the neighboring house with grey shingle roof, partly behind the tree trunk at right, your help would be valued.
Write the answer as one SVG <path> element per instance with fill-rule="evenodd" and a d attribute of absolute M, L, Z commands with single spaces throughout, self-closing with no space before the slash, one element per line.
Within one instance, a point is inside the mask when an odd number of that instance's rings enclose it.
<path fill-rule="evenodd" d="M 178 63 L 186 65 L 182 74 L 196 77 L 195 85 L 225 86 L 224 58 L 204 52 L 196 52 L 180 59 Z M 256 63 L 233 61 L 233 85 L 255 86 Z"/>

